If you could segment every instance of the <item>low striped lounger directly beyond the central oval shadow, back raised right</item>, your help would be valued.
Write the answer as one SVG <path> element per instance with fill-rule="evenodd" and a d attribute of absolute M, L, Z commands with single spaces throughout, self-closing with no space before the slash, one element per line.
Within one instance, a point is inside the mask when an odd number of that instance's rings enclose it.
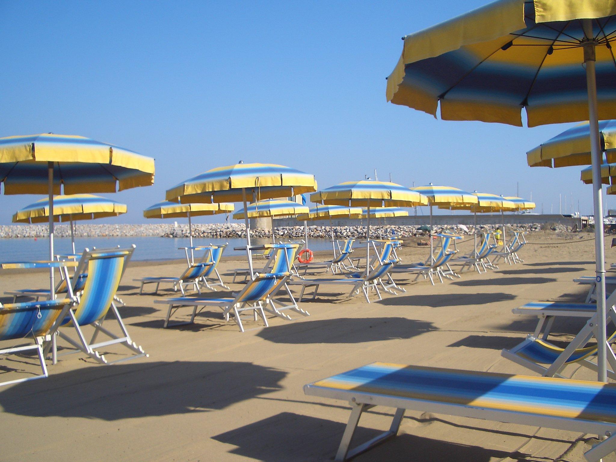
<path fill-rule="evenodd" d="M 355 273 L 351 275 L 351 277 L 347 278 L 314 278 L 314 279 L 298 279 L 298 280 L 290 280 L 288 285 L 301 285 L 301 292 L 299 294 L 299 301 L 301 302 L 304 298 L 304 291 L 306 291 L 307 287 L 314 287 L 314 293 L 312 294 L 312 299 L 317 298 L 317 291 L 319 286 L 352 286 L 351 292 L 349 293 L 349 298 L 354 296 L 355 294 L 359 294 L 360 289 L 363 291 L 363 296 L 365 296 L 366 301 L 370 303 L 370 297 L 368 293 L 370 290 L 375 291 L 379 300 L 382 300 L 381 292 L 379 291 L 379 285 L 381 284 L 381 279 L 386 278 L 387 274 L 394 265 L 397 263 L 397 260 L 391 259 L 389 261 L 379 262 L 379 264 L 375 265 L 373 269 L 371 269 L 368 274 L 360 275 L 359 273 Z"/>

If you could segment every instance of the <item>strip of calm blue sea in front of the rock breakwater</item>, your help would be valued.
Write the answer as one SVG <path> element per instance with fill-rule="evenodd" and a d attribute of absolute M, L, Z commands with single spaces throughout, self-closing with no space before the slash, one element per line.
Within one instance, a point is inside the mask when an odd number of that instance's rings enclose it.
<path fill-rule="evenodd" d="M 253 239 L 253 245 L 269 242 L 269 240 Z M 241 251 L 233 250 L 233 247 L 245 246 L 246 240 L 235 239 L 214 239 L 214 238 L 194 238 L 193 245 L 224 244 L 229 243 L 225 249 L 225 255 L 242 254 Z M 185 258 L 184 250 L 179 247 L 188 246 L 187 238 L 169 237 L 81 237 L 75 239 L 75 249 L 77 253 L 84 248 L 109 248 L 119 245 L 121 247 L 137 246 L 132 256 L 133 260 L 173 260 Z M 70 238 L 56 238 L 54 241 L 55 253 L 71 253 Z M 331 249 L 331 241 L 324 239 L 309 240 L 309 248 L 312 250 Z M 49 255 L 49 241 L 46 238 L 15 238 L 0 239 L 0 261 L 32 261 L 47 259 Z M 198 254 L 201 257 L 201 254 Z M 197 255 L 195 255 L 197 257 Z"/>

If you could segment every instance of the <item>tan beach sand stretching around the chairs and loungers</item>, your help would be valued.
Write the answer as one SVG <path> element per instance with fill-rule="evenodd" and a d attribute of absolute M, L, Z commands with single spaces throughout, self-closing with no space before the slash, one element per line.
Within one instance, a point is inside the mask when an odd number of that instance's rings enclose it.
<path fill-rule="evenodd" d="M 499 270 L 466 272 L 436 286 L 396 275 L 407 292 L 371 304 L 325 290 L 302 304 L 309 317 L 270 318 L 269 328 L 248 322 L 245 333 L 222 322 L 216 310 L 199 315 L 194 325 L 163 329 L 164 306 L 153 300 L 171 292 L 139 296 L 132 280 L 180 274 L 184 265 L 131 264 L 121 283 L 121 313 L 150 357 L 105 366 L 68 355 L 49 365 L 47 379 L 0 388 L 0 460 L 332 460 L 349 408 L 304 395 L 306 383 L 373 361 L 535 375 L 500 356 L 535 326 L 533 318 L 511 309 L 533 300 L 583 301 L 585 286 L 572 278 L 592 274 L 594 242 L 548 233 L 530 235 L 529 241 L 559 245 L 527 245 L 524 264 L 501 262 Z M 614 251 L 606 252 L 612 261 Z M 406 246 L 400 256 L 414 262 L 427 254 Z M 221 263 L 225 281 L 238 264 L 237 258 Z M 0 278 L 2 292 L 45 284 L 44 272 L 4 271 Z M 187 315 L 185 310 L 179 318 Z M 559 320 L 555 331 L 565 340 L 580 325 Z M 9 343 L 15 342 L 0 342 L 0 348 Z M 107 357 L 125 353 L 110 347 Z M 36 365 L 28 357 L 0 359 L 0 381 L 15 377 L 12 369 L 34 373 Z M 577 367 L 565 374 L 593 379 Z M 366 413 L 357 437 L 386 429 L 391 411 Z M 590 436 L 529 424 L 409 411 L 396 439 L 355 460 L 583 460 Z"/>

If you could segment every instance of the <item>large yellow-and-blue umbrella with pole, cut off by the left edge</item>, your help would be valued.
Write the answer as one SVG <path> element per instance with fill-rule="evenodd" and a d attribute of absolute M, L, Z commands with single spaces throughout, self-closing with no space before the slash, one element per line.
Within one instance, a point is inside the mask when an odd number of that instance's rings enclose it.
<path fill-rule="evenodd" d="M 89 138 L 52 133 L 0 138 L 5 194 L 47 194 L 49 259 L 54 259 L 54 195 L 109 193 L 154 183 L 154 159 Z M 54 271 L 49 270 L 51 297 Z"/>

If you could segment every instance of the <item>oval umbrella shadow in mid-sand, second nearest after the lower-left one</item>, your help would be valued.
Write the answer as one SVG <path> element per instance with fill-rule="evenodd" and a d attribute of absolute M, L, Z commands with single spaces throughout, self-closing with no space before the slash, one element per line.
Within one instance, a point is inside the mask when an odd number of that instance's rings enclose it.
<path fill-rule="evenodd" d="M 274 343 L 362 343 L 409 339 L 437 328 L 431 322 L 399 317 L 305 320 L 269 326 L 257 336 Z"/>

